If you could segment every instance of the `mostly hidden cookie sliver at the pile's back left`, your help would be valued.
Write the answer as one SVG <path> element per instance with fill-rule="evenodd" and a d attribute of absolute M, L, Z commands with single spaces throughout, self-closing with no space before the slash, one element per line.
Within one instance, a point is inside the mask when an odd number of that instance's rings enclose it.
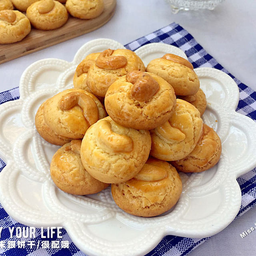
<path fill-rule="evenodd" d="M 89 54 L 84 60 L 82 60 L 82 62 L 80 62 L 80 64 L 76 68 L 76 72 L 73 77 L 74 88 L 83 89 L 90 92 L 90 88 L 88 87 L 86 82 L 87 73 L 90 66 L 95 63 L 99 55 L 100 52 Z"/>

